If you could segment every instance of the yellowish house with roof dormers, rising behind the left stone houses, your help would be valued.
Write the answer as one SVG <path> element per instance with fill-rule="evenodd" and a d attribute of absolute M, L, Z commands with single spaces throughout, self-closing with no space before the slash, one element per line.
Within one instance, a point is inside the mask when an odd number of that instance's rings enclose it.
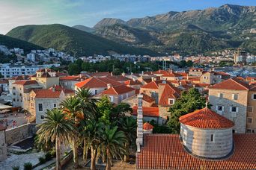
<path fill-rule="evenodd" d="M 36 74 L 31 76 L 32 81 L 37 81 L 40 86 L 43 86 L 43 89 L 48 89 L 50 86 L 59 83 L 59 77 L 56 75 L 56 72 L 52 69 L 39 69 Z"/>

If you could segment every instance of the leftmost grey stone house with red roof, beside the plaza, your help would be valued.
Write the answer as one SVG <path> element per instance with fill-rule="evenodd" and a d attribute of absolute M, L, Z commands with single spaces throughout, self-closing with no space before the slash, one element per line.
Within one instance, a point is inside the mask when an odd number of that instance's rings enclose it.
<path fill-rule="evenodd" d="M 37 84 L 37 81 L 15 81 L 12 84 L 11 95 L 13 107 L 23 106 L 23 95 L 31 91 L 31 89 L 41 89 L 42 87 Z"/>

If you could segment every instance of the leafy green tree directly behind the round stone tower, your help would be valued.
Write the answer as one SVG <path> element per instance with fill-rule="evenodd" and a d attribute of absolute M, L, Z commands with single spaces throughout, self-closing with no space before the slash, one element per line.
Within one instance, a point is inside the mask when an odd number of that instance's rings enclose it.
<path fill-rule="evenodd" d="M 189 92 L 183 92 L 169 109 L 171 116 L 167 124 L 171 128 L 172 133 L 180 132 L 180 116 L 204 108 L 205 103 L 206 99 L 201 96 L 198 89 L 192 88 L 189 89 Z"/>

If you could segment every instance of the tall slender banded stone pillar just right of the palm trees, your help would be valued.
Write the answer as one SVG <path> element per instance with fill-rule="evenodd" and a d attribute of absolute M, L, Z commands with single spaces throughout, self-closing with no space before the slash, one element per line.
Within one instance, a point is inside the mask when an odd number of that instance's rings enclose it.
<path fill-rule="evenodd" d="M 141 145 L 143 145 L 143 110 L 142 110 L 142 98 L 143 95 L 137 95 L 138 97 L 138 110 L 137 110 L 137 152 L 141 151 Z"/>

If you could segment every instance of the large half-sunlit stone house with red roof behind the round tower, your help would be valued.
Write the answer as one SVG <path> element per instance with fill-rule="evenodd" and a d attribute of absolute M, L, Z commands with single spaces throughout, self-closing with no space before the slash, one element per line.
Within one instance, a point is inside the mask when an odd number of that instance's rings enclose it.
<path fill-rule="evenodd" d="M 209 102 L 213 110 L 234 122 L 234 132 L 246 133 L 246 113 L 250 86 L 230 78 L 209 87 Z"/>

